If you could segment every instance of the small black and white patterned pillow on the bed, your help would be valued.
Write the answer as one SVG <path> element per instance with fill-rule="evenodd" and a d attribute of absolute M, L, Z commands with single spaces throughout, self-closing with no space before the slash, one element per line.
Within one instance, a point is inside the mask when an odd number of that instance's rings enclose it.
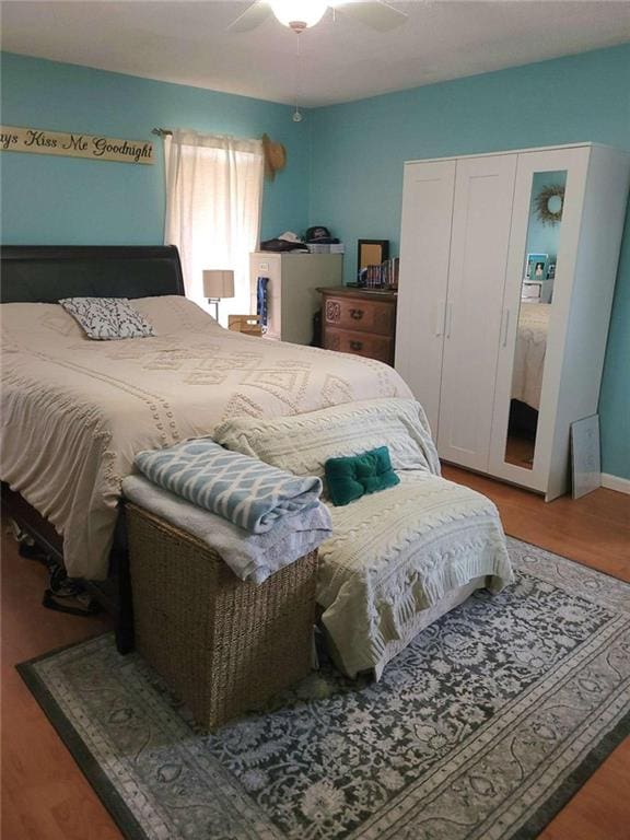
<path fill-rule="evenodd" d="M 88 338 L 107 341 L 155 335 L 127 298 L 65 298 L 59 303 L 83 327 Z"/>

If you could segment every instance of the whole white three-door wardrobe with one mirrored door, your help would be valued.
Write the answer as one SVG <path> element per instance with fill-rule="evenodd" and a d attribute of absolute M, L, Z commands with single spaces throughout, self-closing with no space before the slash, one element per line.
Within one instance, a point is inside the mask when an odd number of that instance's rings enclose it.
<path fill-rule="evenodd" d="M 630 155 L 592 143 L 405 164 L 396 369 L 444 460 L 567 491 L 629 185 Z"/>

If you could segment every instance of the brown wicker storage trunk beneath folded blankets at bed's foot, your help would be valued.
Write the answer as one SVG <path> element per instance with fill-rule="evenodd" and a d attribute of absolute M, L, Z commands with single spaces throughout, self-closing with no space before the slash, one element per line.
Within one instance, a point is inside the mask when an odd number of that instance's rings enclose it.
<path fill-rule="evenodd" d="M 213 730 L 304 677 L 317 551 L 245 583 L 196 537 L 126 505 L 136 644 Z"/>

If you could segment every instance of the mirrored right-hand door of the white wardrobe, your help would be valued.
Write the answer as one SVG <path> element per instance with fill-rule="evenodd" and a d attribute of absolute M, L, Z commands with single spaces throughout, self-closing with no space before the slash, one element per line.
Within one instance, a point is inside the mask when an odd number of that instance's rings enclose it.
<path fill-rule="evenodd" d="M 518 155 L 489 471 L 544 492 L 588 156 L 588 147 Z M 597 284 L 596 272 L 593 284 Z M 595 307 L 592 314 L 595 323 Z M 588 330 L 588 313 L 584 319 Z M 586 370 L 588 355 L 582 355 L 580 368 Z M 568 432 L 564 448 L 569 448 Z"/>

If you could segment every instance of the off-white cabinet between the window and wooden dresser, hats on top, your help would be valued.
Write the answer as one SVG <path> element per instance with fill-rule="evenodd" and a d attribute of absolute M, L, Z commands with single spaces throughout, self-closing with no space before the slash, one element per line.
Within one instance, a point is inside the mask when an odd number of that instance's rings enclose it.
<path fill-rule="evenodd" d="M 249 255 L 252 313 L 256 312 L 259 277 L 267 283 L 267 338 L 310 345 L 313 316 L 322 306 L 318 287 L 341 285 L 341 254 L 273 254 L 259 250 Z"/>

